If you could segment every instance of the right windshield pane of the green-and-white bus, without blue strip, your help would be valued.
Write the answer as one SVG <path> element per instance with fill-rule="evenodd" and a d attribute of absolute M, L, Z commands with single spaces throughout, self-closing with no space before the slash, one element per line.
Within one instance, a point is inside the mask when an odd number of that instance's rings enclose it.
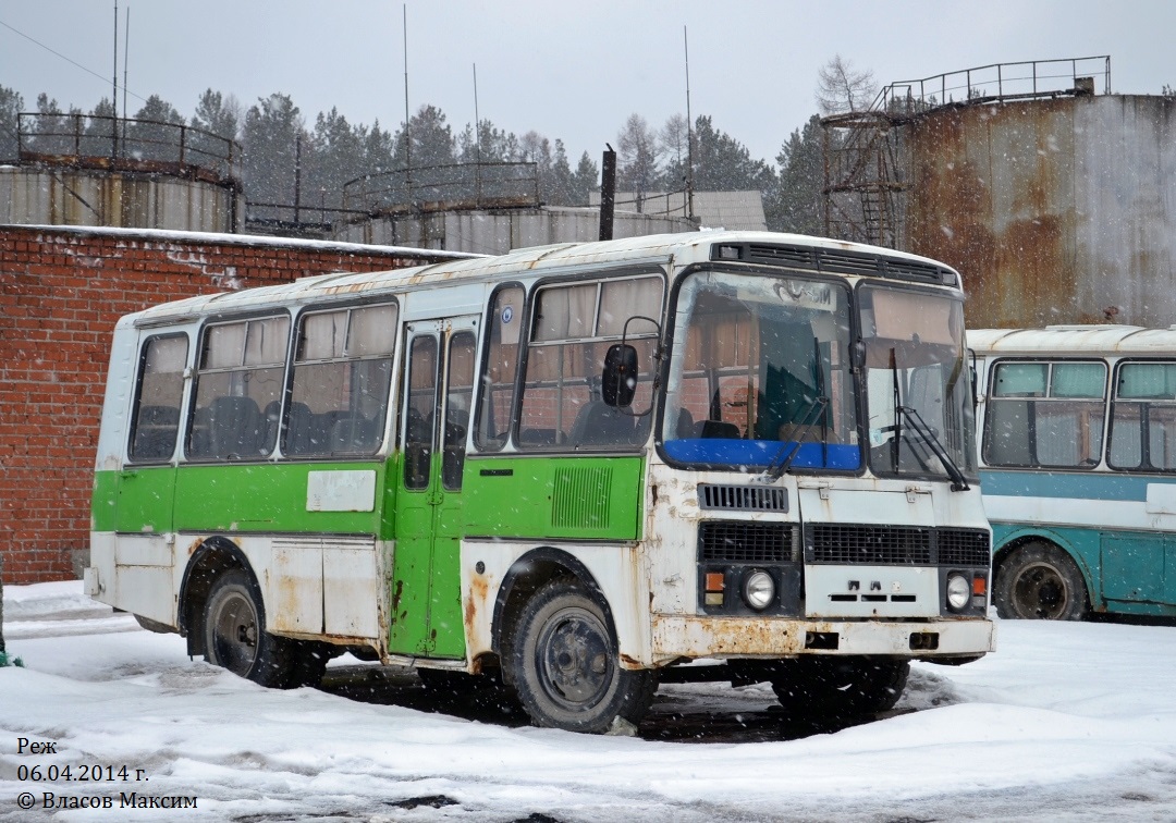
<path fill-rule="evenodd" d="M 858 299 L 874 474 L 974 481 L 963 303 L 884 286 L 864 286 Z"/>

